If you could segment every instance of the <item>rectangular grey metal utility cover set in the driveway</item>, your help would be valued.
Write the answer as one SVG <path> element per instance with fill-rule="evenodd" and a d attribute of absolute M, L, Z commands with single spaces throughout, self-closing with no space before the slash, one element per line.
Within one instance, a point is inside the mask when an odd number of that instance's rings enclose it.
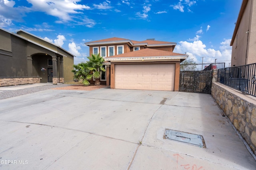
<path fill-rule="evenodd" d="M 166 129 L 164 138 L 184 143 L 190 143 L 199 147 L 205 147 L 204 138 L 201 135 Z"/>

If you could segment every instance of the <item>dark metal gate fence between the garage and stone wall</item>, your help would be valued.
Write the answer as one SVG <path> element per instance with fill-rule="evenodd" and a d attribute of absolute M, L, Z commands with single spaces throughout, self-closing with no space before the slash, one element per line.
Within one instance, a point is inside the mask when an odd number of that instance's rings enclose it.
<path fill-rule="evenodd" d="M 180 92 L 211 93 L 212 70 L 180 71 Z"/>

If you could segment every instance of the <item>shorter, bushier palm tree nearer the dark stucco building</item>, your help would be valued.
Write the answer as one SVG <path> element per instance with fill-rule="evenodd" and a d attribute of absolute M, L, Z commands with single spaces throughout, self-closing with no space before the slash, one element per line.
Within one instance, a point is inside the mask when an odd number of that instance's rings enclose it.
<path fill-rule="evenodd" d="M 90 70 L 88 70 L 88 63 L 79 63 L 79 64 L 73 64 L 74 70 L 71 70 L 74 72 L 74 79 L 78 81 L 82 81 L 82 84 L 84 86 L 89 86 L 90 82 L 88 80 L 88 75 L 90 74 Z"/>

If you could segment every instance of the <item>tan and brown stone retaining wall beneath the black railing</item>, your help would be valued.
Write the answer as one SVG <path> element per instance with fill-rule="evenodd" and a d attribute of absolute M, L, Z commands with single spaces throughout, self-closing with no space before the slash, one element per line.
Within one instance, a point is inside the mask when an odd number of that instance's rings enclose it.
<path fill-rule="evenodd" d="M 217 83 L 216 71 L 212 81 L 212 96 L 256 154 L 256 98 Z"/>

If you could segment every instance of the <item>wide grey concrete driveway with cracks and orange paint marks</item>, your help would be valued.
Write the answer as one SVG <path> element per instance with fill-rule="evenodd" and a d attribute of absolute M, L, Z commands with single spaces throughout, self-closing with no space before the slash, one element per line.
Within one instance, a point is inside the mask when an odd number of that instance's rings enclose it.
<path fill-rule="evenodd" d="M 255 170 L 209 94 L 45 90 L 0 100 L 0 169 Z M 164 139 L 202 135 L 206 148 Z"/>

